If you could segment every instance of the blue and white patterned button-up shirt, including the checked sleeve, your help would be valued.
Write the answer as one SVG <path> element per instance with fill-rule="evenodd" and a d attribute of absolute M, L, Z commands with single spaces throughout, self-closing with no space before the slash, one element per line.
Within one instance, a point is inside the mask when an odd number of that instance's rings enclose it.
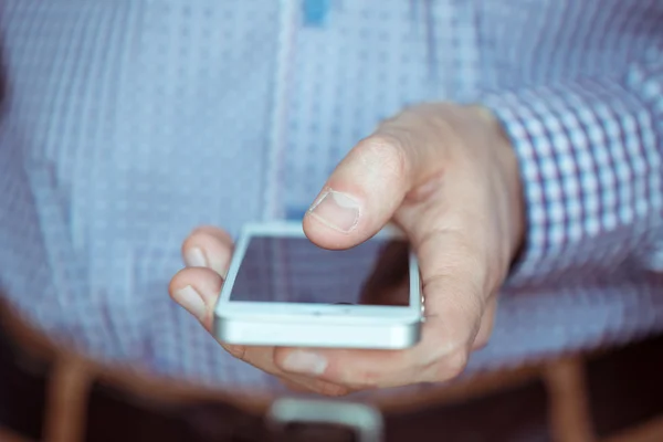
<path fill-rule="evenodd" d="M 527 239 L 469 370 L 663 329 L 659 0 L 3 0 L 0 286 L 104 361 L 277 388 L 167 295 L 198 224 L 297 218 L 376 124 L 483 103 Z"/>

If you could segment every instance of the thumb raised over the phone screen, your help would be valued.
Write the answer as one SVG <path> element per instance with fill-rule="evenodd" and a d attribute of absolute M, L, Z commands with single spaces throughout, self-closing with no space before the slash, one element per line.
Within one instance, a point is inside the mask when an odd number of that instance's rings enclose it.
<path fill-rule="evenodd" d="M 414 161 L 398 137 L 372 135 L 336 167 L 304 217 L 304 231 L 325 249 L 348 249 L 376 234 L 412 187 Z"/>

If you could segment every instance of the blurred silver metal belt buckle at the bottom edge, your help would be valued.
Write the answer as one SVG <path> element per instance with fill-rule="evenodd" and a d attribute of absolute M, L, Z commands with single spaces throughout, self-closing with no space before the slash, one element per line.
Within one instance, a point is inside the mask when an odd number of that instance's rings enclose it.
<path fill-rule="evenodd" d="M 352 430 L 358 442 L 381 442 L 382 414 L 369 404 L 338 400 L 282 398 L 270 407 L 267 422 L 283 429 L 288 424 L 332 424 Z"/>

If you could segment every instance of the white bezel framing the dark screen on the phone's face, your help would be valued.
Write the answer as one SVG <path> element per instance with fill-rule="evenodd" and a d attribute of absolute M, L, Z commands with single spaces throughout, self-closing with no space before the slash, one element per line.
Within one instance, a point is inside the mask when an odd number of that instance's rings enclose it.
<path fill-rule="evenodd" d="M 306 238 L 299 222 L 269 222 L 246 224 L 236 242 L 228 276 L 214 308 L 217 318 L 244 319 L 251 322 L 316 322 L 316 323 L 415 323 L 421 320 L 422 298 L 419 265 L 414 253 L 409 256 L 410 305 L 329 305 L 278 302 L 230 301 L 235 277 L 244 260 L 246 248 L 253 236 Z M 388 225 L 373 238 L 404 238 L 402 232 Z M 369 240 L 370 241 L 370 240 Z"/>

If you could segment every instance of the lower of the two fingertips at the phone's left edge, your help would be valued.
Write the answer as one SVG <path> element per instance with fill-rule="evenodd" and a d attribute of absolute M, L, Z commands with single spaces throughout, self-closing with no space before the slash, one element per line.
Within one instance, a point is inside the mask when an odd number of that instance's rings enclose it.
<path fill-rule="evenodd" d="M 179 271 L 168 286 L 170 297 L 193 315 L 212 333 L 213 312 L 223 278 L 211 269 L 191 267 Z"/>

